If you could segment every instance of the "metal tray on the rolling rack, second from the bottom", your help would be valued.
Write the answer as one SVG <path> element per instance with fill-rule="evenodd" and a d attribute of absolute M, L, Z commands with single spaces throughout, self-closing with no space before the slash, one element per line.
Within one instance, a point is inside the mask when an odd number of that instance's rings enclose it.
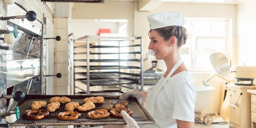
<path fill-rule="evenodd" d="M 76 79 L 76 81 L 87 84 L 87 79 Z M 96 85 L 119 85 L 119 84 L 138 84 L 138 79 L 130 79 L 130 78 L 106 78 L 106 79 L 90 79 L 90 86 Z"/>

